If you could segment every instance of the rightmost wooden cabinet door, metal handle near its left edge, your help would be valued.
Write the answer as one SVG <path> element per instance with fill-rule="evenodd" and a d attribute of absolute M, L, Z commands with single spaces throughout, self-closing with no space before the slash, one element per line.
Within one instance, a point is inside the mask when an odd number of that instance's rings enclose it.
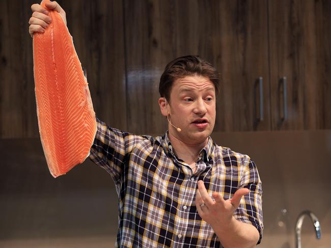
<path fill-rule="evenodd" d="M 331 127 L 330 7 L 329 1 L 269 1 L 273 130 Z"/>

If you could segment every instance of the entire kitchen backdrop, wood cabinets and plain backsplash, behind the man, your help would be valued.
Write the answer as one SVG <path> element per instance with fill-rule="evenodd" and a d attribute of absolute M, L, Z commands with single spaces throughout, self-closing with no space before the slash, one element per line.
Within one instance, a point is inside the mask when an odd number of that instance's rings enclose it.
<path fill-rule="evenodd" d="M 58 2 L 101 120 L 137 134 L 164 133 L 159 77 L 175 57 L 201 55 L 222 79 L 212 137 L 249 154 L 263 181 L 260 247 L 294 246 L 304 209 L 320 219 L 322 239 L 306 220 L 302 247 L 329 247 L 331 1 Z M 33 3 L 0 2 L 0 246 L 113 246 L 111 177 L 89 160 L 57 179 L 47 168 L 28 33 Z"/>

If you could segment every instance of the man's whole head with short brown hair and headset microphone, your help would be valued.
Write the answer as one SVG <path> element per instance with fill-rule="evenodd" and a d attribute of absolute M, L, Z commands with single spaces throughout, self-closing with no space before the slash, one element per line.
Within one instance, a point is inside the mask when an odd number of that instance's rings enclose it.
<path fill-rule="evenodd" d="M 159 85 L 161 113 L 182 131 L 169 125 L 169 135 L 187 144 L 204 142 L 213 130 L 219 74 L 199 56 L 171 61 Z"/>

